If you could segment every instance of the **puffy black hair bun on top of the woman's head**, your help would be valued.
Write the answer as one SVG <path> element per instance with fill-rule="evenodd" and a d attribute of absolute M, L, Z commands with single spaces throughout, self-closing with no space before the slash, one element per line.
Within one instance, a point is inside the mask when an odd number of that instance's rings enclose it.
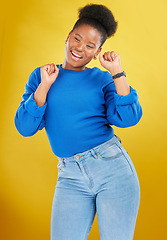
<path fill-rule="evenodd" d="M 103 26 L 108 37 L 116 32 L 117 22 L 112 12 L 104 5 L 88 4 L 79 9 L 78 17 L 96 20 Z"/>

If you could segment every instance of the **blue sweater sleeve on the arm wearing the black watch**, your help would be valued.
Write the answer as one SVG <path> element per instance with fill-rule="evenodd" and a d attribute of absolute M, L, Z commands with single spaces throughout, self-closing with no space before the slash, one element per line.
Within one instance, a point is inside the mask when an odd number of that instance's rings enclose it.
<path fill-rule="evenodd" d="M 114 81 L 111 80 L 103 88 L 106 118 L 111 125 L 125 128 L 136 125 L 142 117 L 142 108 L 138 101 L 138 94 L 130 86 L 130 93 L 126 96 L 116 93 Z"/>

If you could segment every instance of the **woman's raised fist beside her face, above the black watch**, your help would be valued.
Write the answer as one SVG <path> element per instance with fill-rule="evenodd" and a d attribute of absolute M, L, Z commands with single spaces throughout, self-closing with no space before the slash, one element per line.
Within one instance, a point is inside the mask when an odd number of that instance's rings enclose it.
<path fill-rule="evenodd" d="M 102 67 L 108 70 L 111 75 L 115 75 L 119 72 L 122 72 L 121 67 L 121 59 L 118 53 L 112 52 L 105 52 L 104 54 L 99 54 L 99 61 Z"/>

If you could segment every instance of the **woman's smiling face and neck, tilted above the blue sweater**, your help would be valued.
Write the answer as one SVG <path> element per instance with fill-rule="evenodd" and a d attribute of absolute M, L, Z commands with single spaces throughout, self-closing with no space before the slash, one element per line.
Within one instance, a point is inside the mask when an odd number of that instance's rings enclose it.
<path fill-rule="evenodd" d="M 65 48 L 63 68 L 75 71 L 86 69 L 94 56 L 101 51 L 100 32 L 87 24 L 82 24 L 69 33 Z"/>

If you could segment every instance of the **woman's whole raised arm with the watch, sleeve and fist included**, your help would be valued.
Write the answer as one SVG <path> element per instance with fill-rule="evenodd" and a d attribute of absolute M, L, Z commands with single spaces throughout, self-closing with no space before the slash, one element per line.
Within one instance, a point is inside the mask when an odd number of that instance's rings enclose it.
<path fill-rule="evenodd" d="M 120 56 L 116 52 L 100 53 L 101 65 L 111 75 L 122 72 Z M 110 75 L 110 77 L 111 77 Z M 135 89 L 129 86 L 126 77 L 112 80 L 103 89 L 106 102 L 106 117 L 111 125 L 130 127 L 137 124 L 142 116 L 142 108 Z"/>

